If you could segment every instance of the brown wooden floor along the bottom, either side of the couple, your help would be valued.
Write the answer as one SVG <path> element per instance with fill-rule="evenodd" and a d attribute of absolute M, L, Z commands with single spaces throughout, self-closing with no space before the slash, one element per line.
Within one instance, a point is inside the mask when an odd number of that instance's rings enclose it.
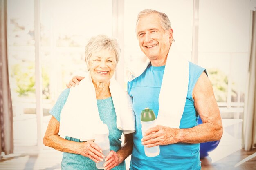
<path fill-rule="evenodd" d="M 253 158 L 242 161 L 250 156 Z M 2 158 L 0 170 L 61 170 L 61 158 L 60 152 L 13 154 Z M 238 150 L 214 163 L 211 157 L 201 161 L 202 170 L 256 170 L 256 149 L 249 152 Z"/>

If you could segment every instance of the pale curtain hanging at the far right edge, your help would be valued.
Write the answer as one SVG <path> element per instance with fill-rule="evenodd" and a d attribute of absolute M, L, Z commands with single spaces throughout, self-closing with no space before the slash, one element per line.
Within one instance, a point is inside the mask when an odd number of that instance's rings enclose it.
<path fill-rule="evenodd" d="M 245 97 L 245 110 L 243 117 L 243 144 L 249 151 L 256 147 L 256 11 L 252 11 L 250 60 L 248 70 L 248 86 Z"/>

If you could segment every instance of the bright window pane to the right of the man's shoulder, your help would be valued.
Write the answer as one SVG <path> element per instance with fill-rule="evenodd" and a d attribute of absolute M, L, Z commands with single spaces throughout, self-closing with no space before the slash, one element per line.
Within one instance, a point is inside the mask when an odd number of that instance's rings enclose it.
<path fill-rule="evenodd" d="M 222 118 L 242 119 L 249 16 L 243 1 L 200 1 L 198 64 L 207 68 Z"/>

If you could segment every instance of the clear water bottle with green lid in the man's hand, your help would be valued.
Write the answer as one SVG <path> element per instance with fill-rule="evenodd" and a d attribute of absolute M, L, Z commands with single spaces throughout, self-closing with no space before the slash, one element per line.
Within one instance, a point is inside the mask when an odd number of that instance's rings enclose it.
<path fill-rule="evenodd" d="M 153 112 L 152 109 L 150 108 L 145 108 L 141 112 L 141 130 L 142 130 L 142 135 L 144 137 L 145 132 L 152 127 L 156 126 L 156 117 L 155 113 Z M 146 156 L 148 157 L 155 157 L 160 154 L 160 147 L 158 146 L 153 146 L 153 147 L 146 147 L 144 146 L 144 152 Z"/>

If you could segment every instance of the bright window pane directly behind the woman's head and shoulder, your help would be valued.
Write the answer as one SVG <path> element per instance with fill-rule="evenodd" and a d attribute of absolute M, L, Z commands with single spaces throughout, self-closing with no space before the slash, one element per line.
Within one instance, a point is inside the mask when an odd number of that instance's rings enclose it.
<path fill-rule="evenodd" d="M 99 33 L 112 35 L 112 1 L 40 1 L 43 133 L 49 110 L 73 75 L 86 70 L 85 44 Z"/>

